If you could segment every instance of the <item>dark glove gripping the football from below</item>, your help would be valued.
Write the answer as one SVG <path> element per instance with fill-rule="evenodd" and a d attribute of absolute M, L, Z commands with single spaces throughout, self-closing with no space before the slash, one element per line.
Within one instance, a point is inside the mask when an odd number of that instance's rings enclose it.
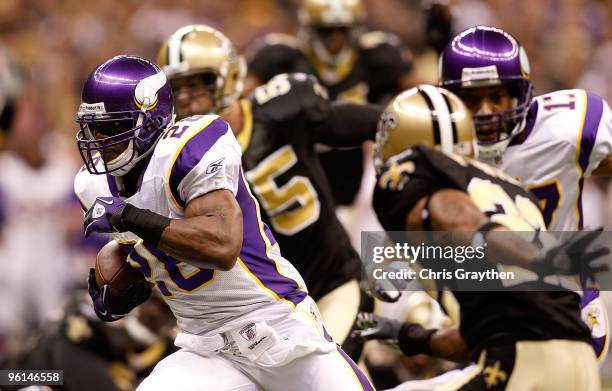
<path fill-rule="evenodd" d="M 94 304 L 94 311 L 104 322 L 114 322 L 123 318 L 132 309 L 149 299 L 152 293 L 151 285 L 146 281 L 130 284 L 118 298 L 111 297 L 111 286 L 104 284 L 102 288 L 96 282 L 95 270 L 89 269 L 87 287 Z"/>

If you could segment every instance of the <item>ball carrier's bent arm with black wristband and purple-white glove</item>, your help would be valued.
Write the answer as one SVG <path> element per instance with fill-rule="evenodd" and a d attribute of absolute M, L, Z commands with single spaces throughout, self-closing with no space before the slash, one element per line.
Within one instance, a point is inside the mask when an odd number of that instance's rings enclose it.
<path fill-rule="evenodd" d="M 105 212 L 96 214 L 96 205 L 102 203 Z M 97 198 L 85 216 L 86 236 L 127 231 L 196 267 L 229 270 L 242 246 L 242 211 L 234 194 L 223 188 L 188 202 L 182 219 L 138 208 L 119 197 Z"/>

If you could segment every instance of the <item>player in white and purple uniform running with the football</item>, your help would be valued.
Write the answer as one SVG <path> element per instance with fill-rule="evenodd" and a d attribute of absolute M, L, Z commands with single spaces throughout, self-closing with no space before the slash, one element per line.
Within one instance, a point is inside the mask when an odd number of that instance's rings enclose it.
<path fill-rule="evenodd" d="M 261 221 L 232 129 L 216 115 L 173 123 L 172 106 L 157 66 L 118 56 L 90 74 L 78 113 L 85 233 L 119 239 L 182 329 L 139 390 L 372 389 Z M 107 321 L 150 293 L 89 283 Z"/>

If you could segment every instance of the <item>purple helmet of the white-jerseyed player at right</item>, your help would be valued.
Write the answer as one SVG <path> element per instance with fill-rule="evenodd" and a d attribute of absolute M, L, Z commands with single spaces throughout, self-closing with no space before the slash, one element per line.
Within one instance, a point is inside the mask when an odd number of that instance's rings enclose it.
<path fill-rule="evenodd" d="M 440 86 L 459 96 L 466 88 L 507 85 L 513 98 L 509 110 L 473 114 L 474 125 L 497 130 L 494 141 L 479 141 L 479 156 L 485 159 L 502 155 L 512 137 L 525 127 L 533 97 L 529 81 L 529 60 L 519 42 L 505 31 L 476 26 L 457 34 L 440 56 Z"/>

